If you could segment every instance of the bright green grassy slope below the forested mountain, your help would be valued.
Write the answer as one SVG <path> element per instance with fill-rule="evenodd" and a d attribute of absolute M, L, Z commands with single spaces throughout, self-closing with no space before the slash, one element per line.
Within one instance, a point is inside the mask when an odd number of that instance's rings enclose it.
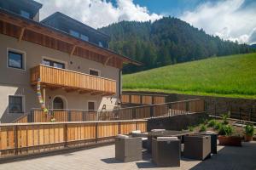
<path fill-rule="evenodd" d="M 256 99 L 256 54 L 214 57 L 125 75 L 123 88 Z"/>

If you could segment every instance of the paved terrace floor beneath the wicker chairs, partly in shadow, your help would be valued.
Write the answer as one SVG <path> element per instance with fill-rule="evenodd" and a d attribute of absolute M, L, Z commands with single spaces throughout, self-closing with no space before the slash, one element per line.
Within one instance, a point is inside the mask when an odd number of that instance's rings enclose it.
<path fill-rule="evenodd" d="M 156 168 L 147 153 L 143 161 L 123 163 L 114 159 L 114 145 L 80 150 L 58 156 L 46 156 L 26 161 L 0 164 L 2 170 L 119 170 L 119 169 L 256 169 L 256 142 L 244 143 L 242 147 L 218 146 L 218 155 L 206 161 L 182 159 L 181 167 Z"/>

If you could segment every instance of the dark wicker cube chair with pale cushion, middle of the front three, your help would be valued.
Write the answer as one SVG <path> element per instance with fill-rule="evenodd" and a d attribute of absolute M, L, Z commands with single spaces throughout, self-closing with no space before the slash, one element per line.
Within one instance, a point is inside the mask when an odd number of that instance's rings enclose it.
<path fill-rule="evenodd" d="M 177 137 L 152 139 L 152 160 L 157 167 L 180 167 L 180 140 Z"/>

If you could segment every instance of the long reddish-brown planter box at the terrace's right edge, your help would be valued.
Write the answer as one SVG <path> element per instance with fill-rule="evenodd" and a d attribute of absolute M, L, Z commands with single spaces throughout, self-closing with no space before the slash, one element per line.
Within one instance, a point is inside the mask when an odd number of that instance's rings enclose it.
<path fill-rule="evenodd" d="M 241 146 L 241 137 L 218 136 L 219 145 Z"/>

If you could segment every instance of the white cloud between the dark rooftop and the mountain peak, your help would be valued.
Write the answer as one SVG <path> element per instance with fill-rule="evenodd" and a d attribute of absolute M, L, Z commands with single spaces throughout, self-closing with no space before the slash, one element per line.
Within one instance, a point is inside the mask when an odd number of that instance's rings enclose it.
<path fill-rule="evenodd" d="M 41 20 L 59 11 L 94 28 L 108 26 L 119 20 L 158 20 L 162 16 L 150 14 L 148 9 L 133 3 L 132 0 L 117 0 L 117 6 L 106 0 L 37 0 L 43 3 Z"/>

